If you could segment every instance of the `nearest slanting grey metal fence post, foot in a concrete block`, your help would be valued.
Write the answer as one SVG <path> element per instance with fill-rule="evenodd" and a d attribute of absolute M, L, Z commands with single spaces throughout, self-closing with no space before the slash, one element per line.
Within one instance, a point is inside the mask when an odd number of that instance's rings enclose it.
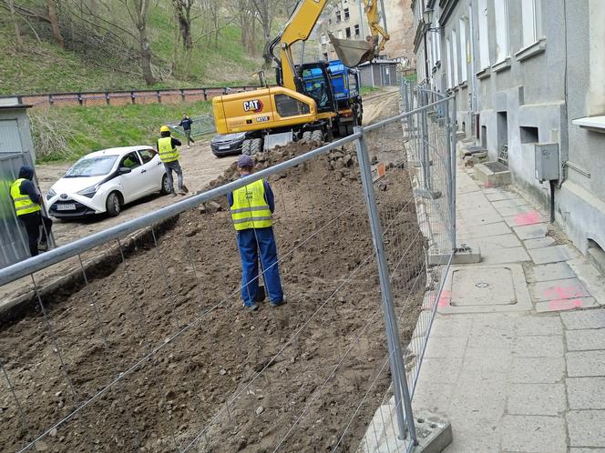
<path fill-rule="evenodd" d="M 393 376 L 393 393 L 395 394 L 397 428 L 399 429 L 399 438 L 404 439 L 406 437 L 405 421 L 407 420 L 407 428 L 409 429 L 410 436 L 414 443 L 417 444 L 414 414 L 412 412 L 412 402 L 410 400 L 409 389 L 407 388 L 404 356 L 401 350 L 401 343 L 399 341 L 399 329 L 397 327 L 397 317 L 395 315 L 395 306 L 393 304 L 393 288 L 391 287 L 388 265 L 386 263 L 383 231 L 380 225 L 380 215 L 378 213 L 378 206 L 376 205 L 376 195 L 372 181 L 372 166 L 370 165 L 368 146 L 365 142 L 363 131 L 364 129 L 362 127 L 354 127 L 355 133 L 362 133 L 362 136 L 355 142 L 355 146 L 357 148 L 359 170 L 362 176 L 362 182 L 364 184 L 365 204 L 370 217 L 370 227 L 372 228 L 372 237 L 374 239 L 374 250 L 376 252 L 376 260 L 378 261 L 380 292 L 382 295 L 383 313 L 385 316 L 386 344 L 389 353 L 391 376 Z"/>

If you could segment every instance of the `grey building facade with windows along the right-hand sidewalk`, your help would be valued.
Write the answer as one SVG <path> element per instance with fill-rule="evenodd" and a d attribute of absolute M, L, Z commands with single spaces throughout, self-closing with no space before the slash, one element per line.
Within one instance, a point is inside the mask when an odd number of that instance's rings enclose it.
<path fill-rule="evenodd" d="M 537 144 L 559 148 L 556 220 L 605 250 L 605 2 L 415 0 L 418 81 L 456 96 L 457 126 L 544 206 Z"/>

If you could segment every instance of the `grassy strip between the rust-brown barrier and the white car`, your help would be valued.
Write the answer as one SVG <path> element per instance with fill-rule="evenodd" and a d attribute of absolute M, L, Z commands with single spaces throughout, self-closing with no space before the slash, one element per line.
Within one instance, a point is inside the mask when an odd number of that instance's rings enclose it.
<path fill-rule="evenodd" d="M 210 114 L 210 102 L 129 106 L 51 107 L 30 110 L 38 162 L 73 161 L 98 149 L 152 145 L 159 126 Z"/>

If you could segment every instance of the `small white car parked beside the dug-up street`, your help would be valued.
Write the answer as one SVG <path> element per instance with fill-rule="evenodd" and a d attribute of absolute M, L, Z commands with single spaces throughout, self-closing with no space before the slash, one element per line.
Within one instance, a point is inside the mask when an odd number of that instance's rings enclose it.
<path fill-rule="evenodd" d="M 168 194 L 166 171 L 150 146 L 104 149 L 80 158 L 46 193 L 51 216 L 108 213 L 153 193 Z"/>

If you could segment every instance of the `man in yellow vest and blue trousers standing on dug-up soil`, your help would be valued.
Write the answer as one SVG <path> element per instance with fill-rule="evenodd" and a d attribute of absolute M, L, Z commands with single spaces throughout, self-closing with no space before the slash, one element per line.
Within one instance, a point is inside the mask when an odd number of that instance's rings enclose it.
<path fill-rule="evenodd" d="M 238 159 L 241 177 L 250 176 L 253 166 L 251 156 L 241 155 Z M 272 227 L 272 213 L 275 210 L 272 188 L 267 181 L 259 179 L 234 190 L 228 198 L 240 249 L 244 308 L 255 311 L 258 309 L 256 302 L 264 298 L 259 290 L 259 251 L 262 280 L 269 293 L 270 304 L 279 307 L 285 303 L 285 297 Z"/>

